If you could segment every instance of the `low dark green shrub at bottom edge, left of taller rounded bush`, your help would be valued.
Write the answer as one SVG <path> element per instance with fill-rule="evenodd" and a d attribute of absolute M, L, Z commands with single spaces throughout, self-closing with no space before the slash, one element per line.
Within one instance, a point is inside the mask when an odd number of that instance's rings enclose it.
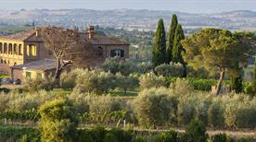
<path fill-rule="evenodd" d="M 168 133 L 160 133 L 155 137 L 154 142 L 177 142 L 178 134 L 175 131 L 170 131 Z"/>

